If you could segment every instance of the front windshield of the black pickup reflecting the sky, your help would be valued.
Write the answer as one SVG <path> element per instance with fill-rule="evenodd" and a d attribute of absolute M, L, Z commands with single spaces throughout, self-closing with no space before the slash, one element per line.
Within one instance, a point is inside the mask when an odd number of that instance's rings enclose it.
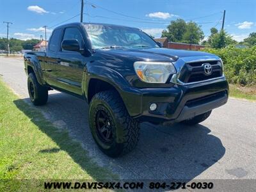
<path fill-rule="evenodd" d="M 122 26 L 84 24 L 93 49 L 110 48 L 157 48 L 159 45 L 139 29 Z"/>

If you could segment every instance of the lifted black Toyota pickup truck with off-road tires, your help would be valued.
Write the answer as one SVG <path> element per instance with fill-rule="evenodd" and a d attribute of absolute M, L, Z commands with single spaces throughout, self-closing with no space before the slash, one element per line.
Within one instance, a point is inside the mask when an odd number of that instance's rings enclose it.
<path fill-rule="evenodd" d="M 88 102 L 93 138 L 111 157 L 136 146 L 140 122 L 198 124 L 228 99 L 218 56 L 164 49 L 125 26 L 65 24 L 24 64 L 33 104 L 46 104 L 52 89 Z"/>

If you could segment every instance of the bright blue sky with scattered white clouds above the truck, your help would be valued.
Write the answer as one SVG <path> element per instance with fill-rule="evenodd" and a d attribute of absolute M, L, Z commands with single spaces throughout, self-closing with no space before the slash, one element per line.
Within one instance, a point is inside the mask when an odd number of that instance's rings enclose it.
<path fill-rule="evenodd" d="M 27 40 L 44 35 L 68 22 L 80 21 L 81 0 L 0 0 L 0 37 Z M 256 0 L 84 0 L 84 22 L 120 24 L 140 28 L 160 37 L 171 20 L 192 20 L 202 26 L 205 38 L 210 29 L 221 28 L 226 10 L 225 30 L 237 41 L 256 32 Z"/>

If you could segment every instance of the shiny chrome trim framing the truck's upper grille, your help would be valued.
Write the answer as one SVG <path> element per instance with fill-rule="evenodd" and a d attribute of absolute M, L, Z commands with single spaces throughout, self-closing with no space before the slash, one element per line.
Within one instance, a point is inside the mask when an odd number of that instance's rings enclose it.
<path fill-rule="evenodd" d="M 221 61 L 221 58 L 219 58 L 218 56 L 215 56 L 215 55 L 179 58 L 179 60 L 177 60 L 173 63 L 174 67 L 177 70 L 177 74 L 172 75 L 170 83 L 180 84 L 180 85 L 189 85 L 189 84 L 205 83 L 205 82 L 214 81 L 214 80 L 218 80 L 218 79 L 223 79 L 223 81 L 224 81 L 226 79 L 224 74 L 222 74 L 221 77 L 214 77 L 212 79 L 206 79 L 204 81 L 195 81 L 195 82 L 191 82 L 191 83 L 183 83 L 182 81 L 179 80 L 180 72 L 181 72 L 182 68 L 184 67 L 184 65 L 186 65 L 186 63 L 195 63 L 195 62 L 207 63 L 209 61 Z"/>

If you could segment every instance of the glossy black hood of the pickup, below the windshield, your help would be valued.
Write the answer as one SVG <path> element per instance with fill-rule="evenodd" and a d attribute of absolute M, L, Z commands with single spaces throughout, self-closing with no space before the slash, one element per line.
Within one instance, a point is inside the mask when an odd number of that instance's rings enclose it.
<path fill-rule="evenodd" d="M 179 58 L 191 56 L 212 56 L 213 54 L 202 51 L 186 51 L 166 48 L 151 49 L 104 49 L 99 50 L 102 54 L 108 54 L 117 58 L 128 60 L 150 61 L 176 61 Z"/>

